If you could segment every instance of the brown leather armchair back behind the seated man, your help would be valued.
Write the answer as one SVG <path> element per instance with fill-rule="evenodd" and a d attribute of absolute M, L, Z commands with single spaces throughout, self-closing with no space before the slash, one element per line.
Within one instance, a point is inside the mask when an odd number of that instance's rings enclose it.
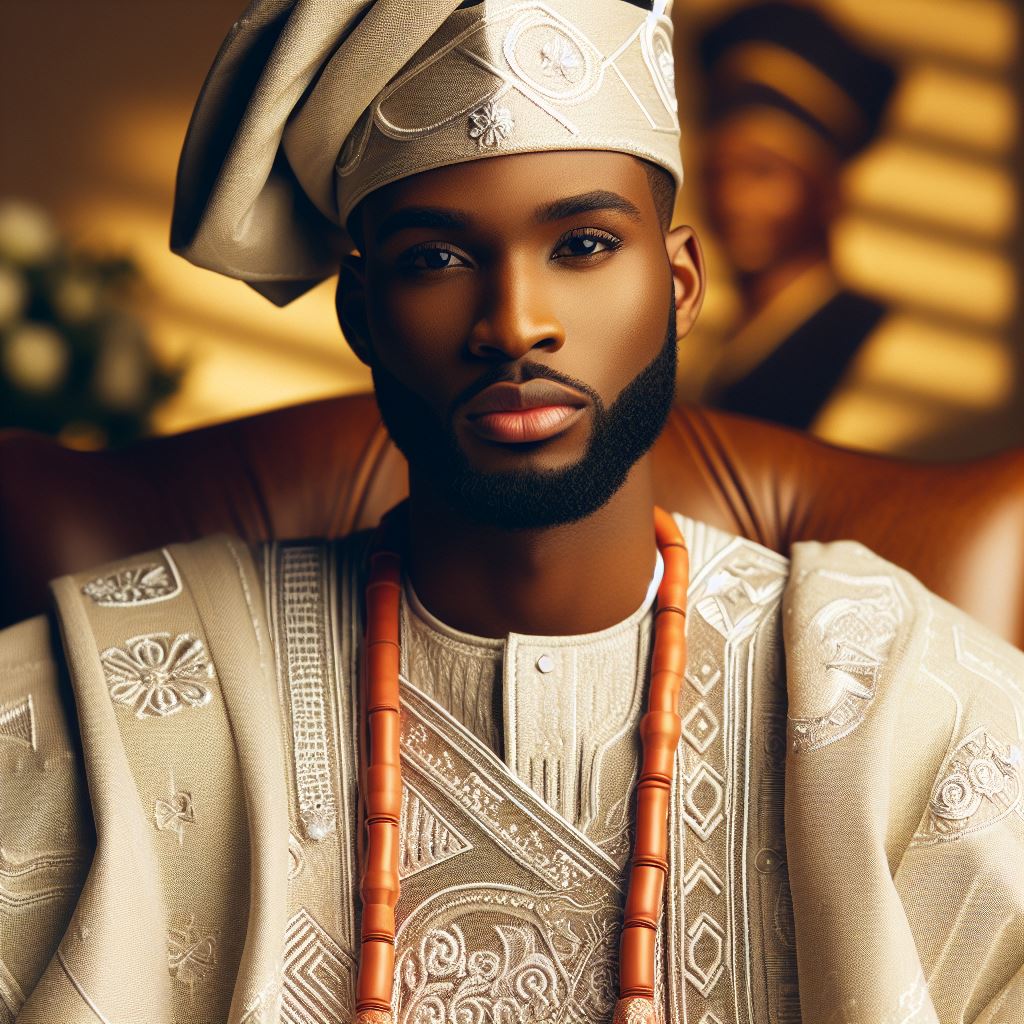
<path fill-rule="evenodd" d="M 654 452 L 658 501 L 785 553 L 852 538 L 1024 645 L 1024 451 L 922 465 L 698 409 Z M 371 396 L 297 406 L 98 453 L 0 438 L 0 625 L 46 582 L 173 541 L 340 537 L 406 493 Z"/>

